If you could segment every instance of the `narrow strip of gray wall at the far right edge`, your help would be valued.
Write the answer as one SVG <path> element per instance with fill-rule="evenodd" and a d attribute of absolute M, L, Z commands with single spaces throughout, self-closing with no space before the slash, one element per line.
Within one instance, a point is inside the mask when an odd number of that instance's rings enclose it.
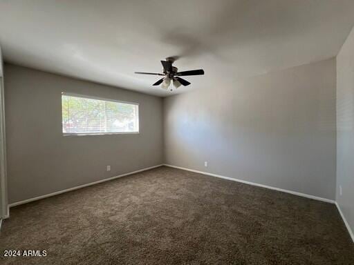
<path fill-rule="evenodd" d="M 337 55 L 337 203 L 354 230 L 354 30 Z"/>

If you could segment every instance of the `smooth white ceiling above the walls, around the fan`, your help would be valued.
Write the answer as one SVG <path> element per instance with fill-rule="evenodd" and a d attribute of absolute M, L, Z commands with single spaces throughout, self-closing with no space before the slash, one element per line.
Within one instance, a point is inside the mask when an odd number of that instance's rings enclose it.
<path fill-rule="evenodd" d="M 160 96 L 333 57 L 353 24 L 353 0 L 0 1 L 6 61 Z M 133 73 L 169 56 L 205 75 L 170 92 Z"/>

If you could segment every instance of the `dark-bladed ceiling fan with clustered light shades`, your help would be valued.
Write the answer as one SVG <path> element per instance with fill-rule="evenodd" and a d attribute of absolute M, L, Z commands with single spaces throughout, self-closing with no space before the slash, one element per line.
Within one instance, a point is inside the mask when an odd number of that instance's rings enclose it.
<path fill-rule="evenodd" d="M 167 89 L 169 87 L 171 81 L 174 83 L 175 88 L 178 88 L 180 85 L 182 86 L 190 85 L 189 81 L 180 77 L 187 76 L 187 75 L 204 75 L 203 69 L 178 72 L 178 69 L 175 66 L 172 66 L 172 63 L 174 63 L 174 61 L 175 61 L 174 57 L 168 57 L 166 58 L 166 61 L 161 61 L 162 68 L 163 68 L 162 74 L 158 72 L 135 72 L 135 73 L 140 75 L 162 76 L 162 78 L 156 81 L 156 83 L 153 84 L 153 86 L 161 85 L 161 87 L 164 89 Z"/>

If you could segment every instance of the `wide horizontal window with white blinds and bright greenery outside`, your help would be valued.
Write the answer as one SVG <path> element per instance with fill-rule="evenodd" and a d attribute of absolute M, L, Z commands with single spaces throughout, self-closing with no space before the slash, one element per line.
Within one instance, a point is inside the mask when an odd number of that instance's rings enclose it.
<path fill-rule="evenodd" d="M 139 105 L 62 93 L 64 135 L 139 133 Z"/>

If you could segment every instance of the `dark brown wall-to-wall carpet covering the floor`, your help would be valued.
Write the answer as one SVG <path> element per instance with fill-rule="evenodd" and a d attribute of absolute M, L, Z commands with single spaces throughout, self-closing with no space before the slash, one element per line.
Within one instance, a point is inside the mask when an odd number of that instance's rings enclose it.
<path fill-rule="evenodd" d="M 354 264 L 335 205 L 174 168 L 10 214 L 1 264 Z M 5 249 L 47 256 L 2 257 Z"/>

